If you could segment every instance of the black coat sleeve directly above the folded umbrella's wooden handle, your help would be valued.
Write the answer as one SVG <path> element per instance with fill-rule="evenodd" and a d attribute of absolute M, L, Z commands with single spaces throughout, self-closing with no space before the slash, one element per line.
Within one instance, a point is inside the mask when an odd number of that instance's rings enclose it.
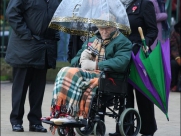
<path fill-rule="evenodd" d="M 156 14 L 155 9 L 153 6 L 153 3 L 151 1 L 144 1 L 142 5 L 143 17 L 145 20 L 145 26 L 147 33 L 144 33 L 146 44 L 148 46 L 151 46 L 153 42 L 155 41 L 157 34 L 158 34 L 158 28 L 156 23 Z"/>

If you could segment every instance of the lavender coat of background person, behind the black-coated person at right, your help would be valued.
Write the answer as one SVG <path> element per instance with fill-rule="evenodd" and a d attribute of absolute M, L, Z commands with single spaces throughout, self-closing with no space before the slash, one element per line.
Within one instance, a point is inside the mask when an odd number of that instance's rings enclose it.
<path fill-rule="evenodd" d="M 151 45 L 151 49 L 153 50 L 157 44 L 157 40 L 161 42 L 161 45 L 165 42 L 165 40 L 162 38 L 162 23 L 161 21 L 164 21 L 167 19 L 167 13 L 161 13 L 160 8 L 158 5 L 157 0 L 150 0 L 155 8 L 155 13 L 156 13 L 156 21 L 157 21 L 157 28 L 158 28 L 158 35 L 157 38 L 155 39 L 155 42 Z"/>

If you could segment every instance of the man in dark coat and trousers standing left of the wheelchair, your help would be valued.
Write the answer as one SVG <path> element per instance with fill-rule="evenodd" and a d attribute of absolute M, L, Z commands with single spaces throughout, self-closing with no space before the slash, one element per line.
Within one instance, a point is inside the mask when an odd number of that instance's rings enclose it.
<path fill-rule="evenodd" d="M 23 132 L 26 93 L 29 89 L 29 131 L 47 132 L 42 126 L 46 73 L 55 68 L 59 33 L 48 28 L 58 0 L 10 0 L 6 9 L 12 27 L 5 60 L 13 67 L 12 130 Z"/>

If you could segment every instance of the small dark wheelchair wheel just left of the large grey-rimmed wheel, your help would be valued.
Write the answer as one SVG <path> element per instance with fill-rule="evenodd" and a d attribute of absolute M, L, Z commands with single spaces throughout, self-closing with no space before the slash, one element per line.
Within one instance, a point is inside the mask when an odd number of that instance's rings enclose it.
<path fill-rule="evenodd" d="M 102 120 L 94 125 L 94 136 L 104 136 L 106 133 L 106 126 Z"/>

